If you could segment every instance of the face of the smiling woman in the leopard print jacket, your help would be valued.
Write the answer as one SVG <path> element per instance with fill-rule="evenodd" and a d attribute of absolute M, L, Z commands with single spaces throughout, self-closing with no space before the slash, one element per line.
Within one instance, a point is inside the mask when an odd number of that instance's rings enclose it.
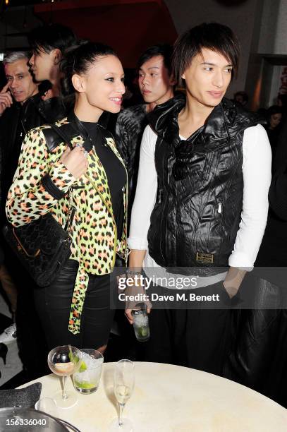
<path fill-rule="evenodd" d="M 100 112 L 116 113 L 121 110 L 125 85 L 123 66 L 118 57 L 113 55 L 97 57 L 82 78 L 83 93 L 90 107 Z"/>

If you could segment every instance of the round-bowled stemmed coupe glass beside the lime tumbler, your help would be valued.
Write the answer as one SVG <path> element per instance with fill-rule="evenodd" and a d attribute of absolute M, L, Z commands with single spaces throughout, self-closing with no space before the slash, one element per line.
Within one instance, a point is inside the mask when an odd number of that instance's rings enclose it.
<path fill-rule="evenodd" d="M 52 372 L 62 377 L 63 390 L 56 392 L 54 400 L 59 408 L 71 408 L 78 402 L 74 392 L 66 391 L 66 377 L 78 371 L 82 363 L 82 352 L 71 345 L 62 345 L 48 354 L 48 366 Z"/>

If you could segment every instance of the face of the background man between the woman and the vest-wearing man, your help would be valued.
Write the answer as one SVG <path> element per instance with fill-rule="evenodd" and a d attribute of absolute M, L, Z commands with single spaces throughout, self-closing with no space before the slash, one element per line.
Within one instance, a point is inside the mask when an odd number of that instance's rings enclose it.
<path fill-rule="evenodd" d="M 162 104 L 173 96 L 173 82 L 163 56 L 154 56 L 140 66 L 138 85 L 147 103 Z"/>

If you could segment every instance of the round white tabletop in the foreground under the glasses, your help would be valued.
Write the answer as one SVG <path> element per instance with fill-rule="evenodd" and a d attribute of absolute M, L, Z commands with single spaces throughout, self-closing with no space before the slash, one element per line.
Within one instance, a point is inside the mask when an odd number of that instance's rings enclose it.
<path fill-rule="evenodd" d="M 113 388 L 114 364 L 106 363 L 92 395 L 78 394 L 78 404 L 59 409 L 59 418 L 81 432 L 108 432 L 118 415 Z M 40 381 L 41 397 L 59 390 L 58 376 Z M 67 388 L 73 388 L 71 379 Z M 75 390 L 74 390 L 75 391 Z M 123 416 L 134 432 L 286 432 L 287 410 L 243 385 L 195 369 L 135 362 L 135 390 Z"/>

